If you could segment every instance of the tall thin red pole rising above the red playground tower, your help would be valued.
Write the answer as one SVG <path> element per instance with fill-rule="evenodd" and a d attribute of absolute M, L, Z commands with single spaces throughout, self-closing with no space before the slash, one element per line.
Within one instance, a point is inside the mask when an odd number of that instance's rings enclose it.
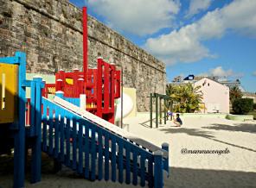
<path fill-rule="evenodd" d="M 83 7 L 83 51 L 84 51 L 84 64 L 83 64 L 83 71 L 84 71 L 84 80 L 85 85 L 87 82 L 87 69 L 88 69 L 88 31 L 87 31 L 87 8 Z"/>

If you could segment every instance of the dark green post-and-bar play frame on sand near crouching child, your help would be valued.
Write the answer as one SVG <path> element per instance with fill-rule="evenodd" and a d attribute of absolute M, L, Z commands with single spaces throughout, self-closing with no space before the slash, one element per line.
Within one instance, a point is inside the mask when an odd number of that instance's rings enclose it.
<path fill-rule="evenodd" d="M 164 124 L 166 124 L 167 109 L 166 106 L 170 102 L 170 96 L 162 95 L 158 93 L 150 93 L 150 128 L 153 128 L 153 99 L 156 99 L 156 128 L 158 128 L 158 120 L 162 124 L 162 119 Z M 162 111 L 162 100 L 163 100 L 163 111 Z M 171 109 L 170 109 L 171 110 Z"/>

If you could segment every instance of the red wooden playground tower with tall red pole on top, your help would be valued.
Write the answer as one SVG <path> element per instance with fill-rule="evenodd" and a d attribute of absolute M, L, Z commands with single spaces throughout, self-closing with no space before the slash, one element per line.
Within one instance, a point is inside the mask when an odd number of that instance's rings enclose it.
<path fill-rule="evenodd" d="M 83 72 L 59 71 L 55 74 L 55 84 L 47 84 L 43 96 L 63 91 L 64 97 L 79 98 L 86 95 L 85 109 L 114 123 L 114 100 L 120 97 L 120 74 L 115 66 L 98 59 L 97 69 L 88 69 L 87 60 L 87 14 L 83 8 Z M 69 100 L 70 102 L 74 100 Z"/>

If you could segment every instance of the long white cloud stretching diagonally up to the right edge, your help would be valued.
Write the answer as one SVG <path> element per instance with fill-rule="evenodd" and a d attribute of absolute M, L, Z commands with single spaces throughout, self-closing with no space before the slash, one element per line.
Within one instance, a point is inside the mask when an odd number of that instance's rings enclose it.
<path fill-rule="evenodd" d="M 229 29 L 256 36 L 256 1 L 234 0 L 197 22 L 146 41 L 144 48 L 168 65 L 214 57 L 202 42 L 221 38 Z"/>

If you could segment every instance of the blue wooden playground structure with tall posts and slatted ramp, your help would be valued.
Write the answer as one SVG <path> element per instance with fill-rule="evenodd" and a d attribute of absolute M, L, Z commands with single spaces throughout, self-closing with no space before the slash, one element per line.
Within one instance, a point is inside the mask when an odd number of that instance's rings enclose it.
<path fill-rule="evenodd" d="M 15 188 L 24 187 L 26 145 L 32 148 L 31 183 L 41 180 L 43 151 L 56 162 L 69 167 L 85 179 L 111 178 L 115 182 L 118 173 L 119 183 L 132 182 L 133 185 L 139 183 L 142 186 L 148 184 L 150 187 L 163 187 L 163 171 L 169 174 L 168 144 L 164 143 L 162 147 L 157 147 L 136 135 L 131 135 L 99 116 L 63 100 L 65 93 L 60 91 L 56 93 L 58 97 L 54 97 L 54 101 L 42 97 L 44 88 L 42 78 L 33 78 L 32 81 L 25 79 L 25 53 L 1 58 L 0 62 L 4 65 L 16 65 L 18 70 L 13 72 L 18 73 L 14 81 L 17 89 L 6 91 L 3 85 L 7 82 L 3 82 L 10 79 L 1 79 L 2 93 L 5 94 L 0 97 L 1 103 L 4 103 L 1 106 L 1 114 L 5 110 L 4 107 L 12 103 L 5 97 L 16 98 L 12 113 L 17 116 L 12 121 L 6 120 L 4 123 L 4 117 L 1 116 L 0 119 L 0 133 L 5 125 L 12 131 L 10 135 L 4 135 L 4 139 L 14 135 Z M 0 76 L 4 78 L 3 73 L 9 72 L 9 69 L 6 66 Z M 6 75 L 9 76 L 7 73 Z M 29 103 L 25 98 L 28 87 L 31 88 Z M 29 111 L 25 109 L 26 103 Z M 29 118 L 26 125 L 25 116 Z M 3 144 L 5 142 L 0 142 L 0 150 Z"/>

